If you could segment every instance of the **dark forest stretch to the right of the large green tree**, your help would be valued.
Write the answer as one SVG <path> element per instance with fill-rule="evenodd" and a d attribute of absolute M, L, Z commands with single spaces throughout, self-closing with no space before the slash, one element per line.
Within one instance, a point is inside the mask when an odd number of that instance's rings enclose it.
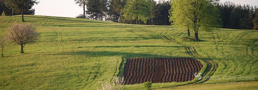
<path fill-rule="evenodd" d="M 253 29 L 255 10 L 257 7 L 224 2 L 217 5 L 220 9 L 223 28 L 226 29 Z"/>

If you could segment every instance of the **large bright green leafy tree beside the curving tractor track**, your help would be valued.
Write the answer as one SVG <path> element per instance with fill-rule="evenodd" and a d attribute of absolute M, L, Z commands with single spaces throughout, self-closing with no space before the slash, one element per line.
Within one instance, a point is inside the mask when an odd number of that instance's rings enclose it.
<path fill-rule="evenodd" d="M 193 30 L 194 39 L 199 40 L 199 31 L 211 31 L 221 26 L 216 3 L 215 0 L 171 0 L 170 19 L 175 26 Z"/>

